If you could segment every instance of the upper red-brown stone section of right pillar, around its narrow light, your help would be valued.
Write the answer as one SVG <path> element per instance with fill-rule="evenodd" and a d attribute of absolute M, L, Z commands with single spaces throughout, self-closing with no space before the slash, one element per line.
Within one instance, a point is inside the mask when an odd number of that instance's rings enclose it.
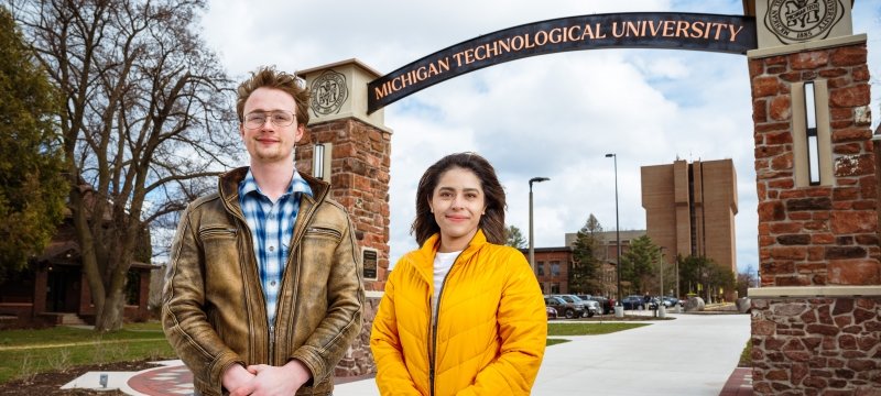
<path fill-rule="evenodd" d="M 751 59 L 762 287 L 881 285 L 866 45 Z M 791 85 L 828 81 L 835 183 L 796 188 Z"/>

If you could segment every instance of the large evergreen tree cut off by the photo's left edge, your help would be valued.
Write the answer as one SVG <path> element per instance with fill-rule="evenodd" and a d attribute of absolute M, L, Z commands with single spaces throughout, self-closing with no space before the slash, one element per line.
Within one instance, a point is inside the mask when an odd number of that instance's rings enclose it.
<path fill-rule="evenodd" d="M 69 190 L 55 124 L 58 96 L 0 7 L 0 282 L 55 233 Z"/>

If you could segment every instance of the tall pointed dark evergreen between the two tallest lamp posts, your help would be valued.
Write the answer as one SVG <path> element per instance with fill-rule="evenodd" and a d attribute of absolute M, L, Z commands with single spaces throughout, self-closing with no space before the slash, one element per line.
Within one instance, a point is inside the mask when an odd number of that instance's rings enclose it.
<path fill-rule="evenodd" d="M 569 288 L 578 294 L 601 294 L 602 271 L 597 258 L 602 244 L 599 234 L 602 226 L 590 213 L 585 226 L 578 230 L 573 244 L 573 268 L 569 271 Z"/>

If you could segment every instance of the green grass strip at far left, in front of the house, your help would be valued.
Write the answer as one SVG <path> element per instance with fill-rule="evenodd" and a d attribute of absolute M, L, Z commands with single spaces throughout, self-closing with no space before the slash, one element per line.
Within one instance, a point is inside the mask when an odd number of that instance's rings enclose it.
<path fill-rule="evenodd" d="M 159 322 L 127 324 L 120 331 L 55 327 L 0 331 L 0 384 L 76 365 L 173 359 Z"/>

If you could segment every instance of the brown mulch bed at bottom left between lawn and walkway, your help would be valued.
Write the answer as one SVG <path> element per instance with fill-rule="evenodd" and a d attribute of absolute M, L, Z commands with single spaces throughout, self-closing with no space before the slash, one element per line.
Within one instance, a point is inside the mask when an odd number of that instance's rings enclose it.
<path fill-rule="evenodd" d="M 138 372 L 153 369 L 156 365 L 150 361 L 135 362 L 113 362 L 101 364 L 89 364 L 70 367 L 64 371 L 46 372 L 34 375 L 32 378 L 14 380 L 6 384 L 0 384 L 0 395 L 12 396 L 35 396 L 35 395 L 104 395 L 117 396 L 124 395 L 119 391 L 89 391 L 89 389 L 59 389 L 64 384 L 90 371 L 130 371 Z"/>

